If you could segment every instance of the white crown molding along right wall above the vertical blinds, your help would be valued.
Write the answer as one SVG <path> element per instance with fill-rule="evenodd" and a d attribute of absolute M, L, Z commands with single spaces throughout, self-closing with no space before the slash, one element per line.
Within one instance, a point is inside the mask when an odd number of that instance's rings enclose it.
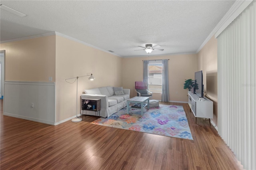
<path fill-rule="evenodd" d="M 252 2 L 253 0 L 236 0 L 228 12 L 223 16 L 220 22 L 212 30 L 209 36 L 204 40 L 202 45 L 198 48 L 196 53 L 198 53 L 204 45 L 214 36 L 215 38 L 234 20 L 236 17 Z"/>

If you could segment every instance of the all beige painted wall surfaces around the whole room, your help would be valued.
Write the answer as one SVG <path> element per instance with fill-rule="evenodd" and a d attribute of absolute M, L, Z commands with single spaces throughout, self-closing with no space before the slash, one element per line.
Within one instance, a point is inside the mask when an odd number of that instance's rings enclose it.
<path fill-rule="evenodd" d="M 196 54 L 164 55 L 152 57 L 121 58 L 110 53 L 88 47 L 60 36 L 47 36 L 2 43 L 6 50 L 6 81 L 47 82 L 48 77 L 56 82 L 56 120 L 68 119 L 76 114 L 76 83 L 66 83 L 70 77 L 93 73 L 95 81 L 81 77 L 78 81 L 78 113 L 80 94 L 84 89 L 102 86 L 122 86 L 136 96 L 135 81 L 142 81 L 142 60 L 170 59 L 170 101 L 187 102 L 185 79 L 194 79 L 194 72 L 203 70 L 205 91 L 214 101 L 214 122 L 217 119 L 217 40 L 212 38 Z M 72 81 L 72 80 L 70 80 Z M 152 99 L 161 100 L 159 93 Z"/>

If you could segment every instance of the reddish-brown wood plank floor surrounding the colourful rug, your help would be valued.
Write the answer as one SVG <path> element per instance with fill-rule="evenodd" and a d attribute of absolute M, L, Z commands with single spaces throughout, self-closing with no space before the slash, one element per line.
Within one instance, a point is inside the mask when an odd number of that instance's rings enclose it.
<path fill-rule="evenodd" d="M 162 103 L 163 104 L 163 103 Z M 0 101 L 0 169 L 237 170 L 233 152 L 208 120 L 183 105 L 194 140 L 92 125 L 96 117 L 52 126 L 3 116 Z"/>

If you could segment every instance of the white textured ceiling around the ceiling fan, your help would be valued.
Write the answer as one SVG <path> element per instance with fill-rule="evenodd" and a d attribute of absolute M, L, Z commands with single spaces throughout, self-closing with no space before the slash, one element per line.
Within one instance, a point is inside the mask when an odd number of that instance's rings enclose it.
<path fill-rule="evenodd" d="M 27 14 L 0 11 L 1 42 L 59 32 L 121 57 L 147 56 L 146 43 L 164 51 L 196 53 L 235 1 L 41 1 L 1 0 Z"/>

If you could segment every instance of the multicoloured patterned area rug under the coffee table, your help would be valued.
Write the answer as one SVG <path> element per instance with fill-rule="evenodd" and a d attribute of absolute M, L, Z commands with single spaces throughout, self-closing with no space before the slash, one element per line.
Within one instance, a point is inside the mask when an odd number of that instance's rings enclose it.
<path fill-rule="evenodd" d="M 130 107 L 127 114 L 125 107 L 108 118 L 101 117 L 93 121 L 92 124 L 193 140 L 182 106 L 159 105 L 146 110 L 144 108 L 144 115 L 141 116 L 140 109 Z"/>

